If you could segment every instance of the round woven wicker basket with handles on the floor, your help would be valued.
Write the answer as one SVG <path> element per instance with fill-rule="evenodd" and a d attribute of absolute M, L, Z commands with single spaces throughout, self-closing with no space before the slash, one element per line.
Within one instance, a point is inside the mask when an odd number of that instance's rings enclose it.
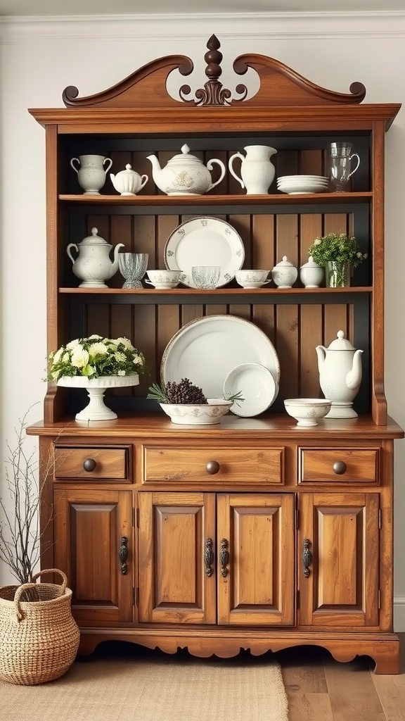
<path fill-rule="evenodd" d="M 63 581 L 35 583 L 45 573 Z M 70 588 L 63 571 L 40 571 L 32 583 L 0 587 L 0 678 L 11 684 L 44 684 L 68 671 L 79 647 L 79 628 L 71 614 Z M 24 601 L 27 592 L 37 601 Z"/>

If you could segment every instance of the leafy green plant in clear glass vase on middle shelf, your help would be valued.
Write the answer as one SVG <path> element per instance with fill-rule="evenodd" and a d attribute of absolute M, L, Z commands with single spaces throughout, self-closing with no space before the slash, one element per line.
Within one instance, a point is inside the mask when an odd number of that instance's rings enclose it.
<path fill-rule="evenodd" d="M 355 237 L 345 233 L 328 233 L 315 238 L 308 248 L 308 255 L 325 268 L 329 288 L 350 286 L 352 268 L 368 257 L 360 250 Z"/>

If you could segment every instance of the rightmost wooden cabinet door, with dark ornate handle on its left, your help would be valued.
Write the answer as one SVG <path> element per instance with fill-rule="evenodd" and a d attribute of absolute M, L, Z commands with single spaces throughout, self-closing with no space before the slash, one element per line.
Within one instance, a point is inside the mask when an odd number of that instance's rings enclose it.
<path fill-rule="evenodd" d="M 378 626 L 378 499 L 378 493 L 301 495 L 301 625 Z"/>

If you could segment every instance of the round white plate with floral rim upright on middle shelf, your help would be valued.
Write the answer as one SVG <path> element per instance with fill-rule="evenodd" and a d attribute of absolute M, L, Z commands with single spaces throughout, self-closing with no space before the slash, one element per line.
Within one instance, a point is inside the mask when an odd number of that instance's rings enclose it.
<path fill-rule="evenodd" d="M 217 288 L 226 286 L 244 265 L 245 249 L 241 236 L 220 218 L 190 218 L 177 226 L 164 247 L 164 262 L 169 270 L 182 270 L 181 282 L 196 288 L 193 265 L 219 265 Z"/>

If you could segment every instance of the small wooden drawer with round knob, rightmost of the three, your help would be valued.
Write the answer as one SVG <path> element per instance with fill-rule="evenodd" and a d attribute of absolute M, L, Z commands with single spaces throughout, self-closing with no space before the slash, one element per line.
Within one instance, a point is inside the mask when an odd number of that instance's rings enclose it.
<path fill-rule="evenodd" d="M 379 448 L 300 448 L 300 483 L 378 483 Z"/>

